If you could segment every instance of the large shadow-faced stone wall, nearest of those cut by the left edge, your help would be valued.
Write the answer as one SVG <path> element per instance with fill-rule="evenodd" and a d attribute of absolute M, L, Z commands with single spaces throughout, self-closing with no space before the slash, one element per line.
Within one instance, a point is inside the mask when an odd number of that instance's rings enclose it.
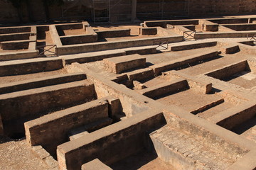
<path fill-rule="evenodd" d="M 3 94 L 0 109 L 4 132 L 6 135 L 22 133 L 23 123 L 28 120 L 95 98 L 93 84 L 86 81 Z"/>

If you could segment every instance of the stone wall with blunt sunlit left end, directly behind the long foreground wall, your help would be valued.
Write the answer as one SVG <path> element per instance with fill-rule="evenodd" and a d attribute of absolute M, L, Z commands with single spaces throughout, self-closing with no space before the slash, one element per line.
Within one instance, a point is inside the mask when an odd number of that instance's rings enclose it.
<path fill-rule="evenodd" d="M 57 146 L 68 142 L 68 131 L 109 117 L 108 98 L 67 108 L 26 122 L 26 139 L 32 146 L 42 145 L 55 155 Z M 111 98 L 109 98 L 111 99 Z"/>

